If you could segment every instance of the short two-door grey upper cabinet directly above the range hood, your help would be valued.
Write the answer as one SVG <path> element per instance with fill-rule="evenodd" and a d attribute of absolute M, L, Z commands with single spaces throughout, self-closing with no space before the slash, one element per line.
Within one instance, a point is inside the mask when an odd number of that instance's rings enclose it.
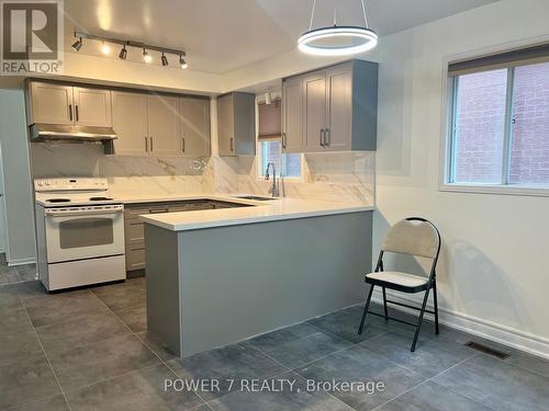
<path fill-rule="evenodd" d="M 30 124 L 112 126 L 110 90 L 40 81 L 32 81 L 30 89 Z"/>

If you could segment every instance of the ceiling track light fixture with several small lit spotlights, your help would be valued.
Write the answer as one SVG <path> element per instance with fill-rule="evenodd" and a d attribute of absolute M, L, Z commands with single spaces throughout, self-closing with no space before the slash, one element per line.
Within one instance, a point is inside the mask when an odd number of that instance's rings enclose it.
<path fill-rule="evenodd" d="M 175 55 L 179 56 L 179 65 L 181 66 L 181 69 L 187 69 L 189 66 L 187 65 L 187 61 L 184 60 L 184 57 L 187 54 L 183 50 L 177 50 L 173 48 L 167 48 L 167 47 L 160 47 L 160 46 L 154 46 L 150 44 L 145 44 L 141 42 L 133 42 L 130 39 L 121 39 L 121 38 L 112 38 L 112 37 L 103 37 L 103 36 L 97 36 L 94 34 L 88 34 L 83 32 L 75 32 L 75 37 L 77 41 L 72 44 L 72 48 L 76 52 L 79 52 L 80 48 L 82 48 L 82 39 L 86 38 L 88 41 L 96 41 L 96 42 L 101 42 L 101 52 L 104 55 L 108 55 L 111 53 L 111 47 L 112 45 L 120 45 L 122 46 L 122 49 L 119 53 L 119 58 L 121 60 L 127 59 L 127 48 L 128 47 L 135 47 L 139 48 L 143 50 L 143 61 L 149 64 L 153 62 L 153 55 L 150 52 L 156 52 L 161 55 L 160 57 L 160 64 L 163 67 L 168 67 L 169 66 L 169 60 L 167 55 Z"/>

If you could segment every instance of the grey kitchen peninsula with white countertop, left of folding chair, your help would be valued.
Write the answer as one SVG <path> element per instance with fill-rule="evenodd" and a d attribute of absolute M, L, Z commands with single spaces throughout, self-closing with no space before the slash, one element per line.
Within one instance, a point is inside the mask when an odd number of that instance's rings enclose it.
<path fill-rule="evenodd" d="M 248 207 L 141 216 L 148 330 L 170 351 L 187 357 L 363 299 L 373 207 L 215 199 Z"/>

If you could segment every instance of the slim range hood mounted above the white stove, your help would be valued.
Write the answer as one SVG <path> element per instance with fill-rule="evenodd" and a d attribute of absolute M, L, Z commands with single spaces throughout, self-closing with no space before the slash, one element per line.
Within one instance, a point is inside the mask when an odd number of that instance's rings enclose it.
<path fill-rule="evenodd" d="M 34 123 L 30 126 L 30 130 L 33 141 L 105 141 L 117 138 L 112 127 Z"/>

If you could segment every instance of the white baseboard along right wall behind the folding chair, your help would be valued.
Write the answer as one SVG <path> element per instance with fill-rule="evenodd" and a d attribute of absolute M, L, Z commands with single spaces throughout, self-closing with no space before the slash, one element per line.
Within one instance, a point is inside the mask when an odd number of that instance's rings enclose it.
<path fill-rule="evenodd" d="M 389 293 L 388 297 L 396 302 L 408 304 L 415 307 L 418 306 L 417 301 L 410 297 Z M 381 289 L 379 287 L 376 287 L 373 290 L 372 301 L 383 304 L 383 295 L 381 294 Z M 391 306 L 391 308 L 417 315 L 417 311 L 405 307 Z M 427 304 L 427 309 L 433 310 L 430 297 L 429 302 Z M 425 318 L 434 321 L 434 316 L 428 312 L 425 313 Z M 450 328 L 466 331 L 486 340 L 492 340 L 500 344 L 508 345 L 511 347 L 549 359 L 549 339 L 516 330 L 511 327 L 497 324 L 467 313 L 452 311 L 440 306 L 438 307 L 438 321 Z"/>

